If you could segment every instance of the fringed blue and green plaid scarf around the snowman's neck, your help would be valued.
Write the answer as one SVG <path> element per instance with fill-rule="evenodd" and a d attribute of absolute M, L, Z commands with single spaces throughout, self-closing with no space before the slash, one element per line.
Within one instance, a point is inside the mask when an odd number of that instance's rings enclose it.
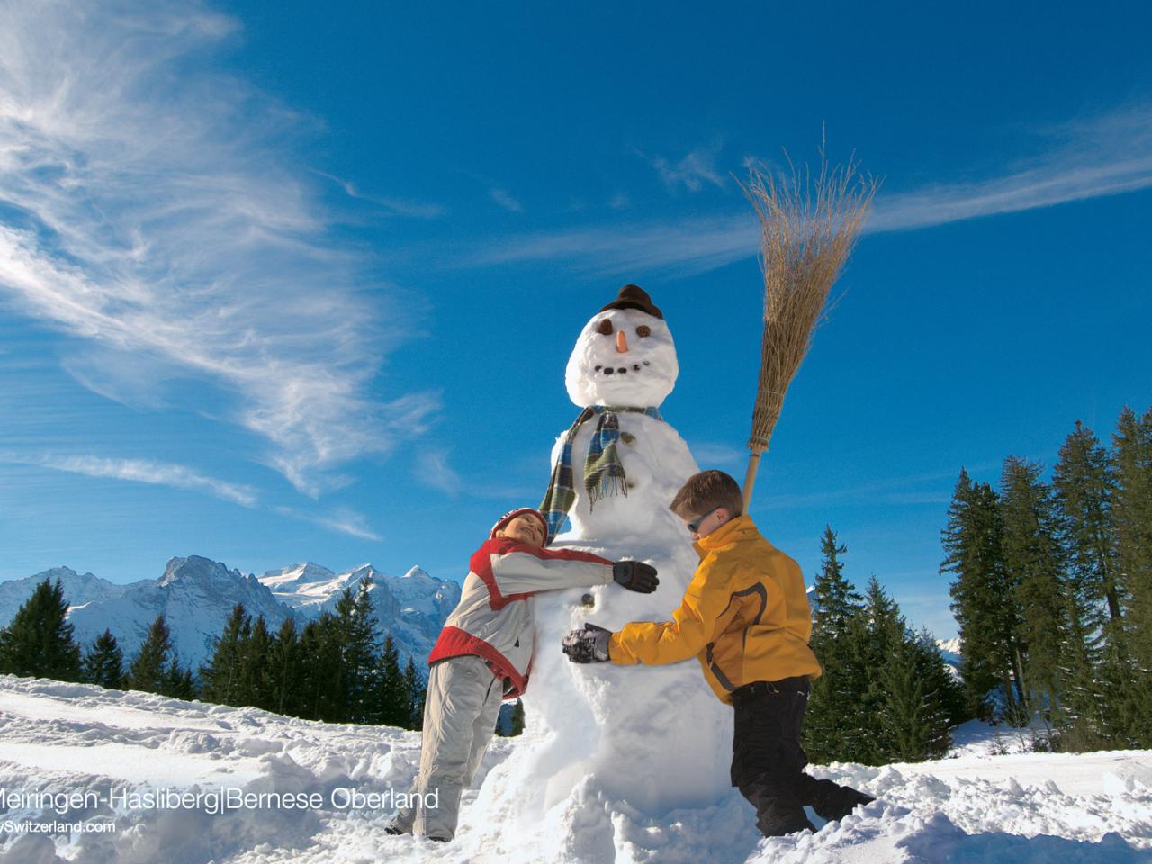
<path fill-rule="evenodd" d="M 540 513 L 548 521 L 548 543 L 560 533 L 568 511 L 576 503 L 576 486 L 573 482 L 573 441 L 576 439 L 576 430 L 593 415 L 600 415 L 592 432 L 592 440 L 588 442 L 588 455 L 584 457 L 584 488 L 588 490 L 589 509 L 596 502 L 607 495 L 628 494 L 628 483 L 624 477 L 624 467 L 616 454 L 616 441 L 620 440 L 620 411 L 632 411 L 635 414 L 646 414 L 653 419 L 662 419 L 660 412 L 654 408 L 622 408 L 616 406 L 590 406 L 581 411 L 576 422 L 564 432 L 563 446 L 560 449 L 560 458 L 556 460 L 552 469 L 552 479 L 548 480 L 548 491 L 544 494 L 540 503 Z"/>

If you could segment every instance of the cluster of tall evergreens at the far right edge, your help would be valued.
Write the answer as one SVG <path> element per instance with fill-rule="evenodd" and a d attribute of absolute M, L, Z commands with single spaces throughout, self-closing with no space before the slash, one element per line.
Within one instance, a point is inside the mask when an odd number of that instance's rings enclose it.
<path fill-rule="evenodd" d="M 1152 746 L 1152 408 L 1106 447 L 1076 422 L 1052 478 L 961 470 L 942 532 L 969 710 L 1083 751 Z"/>

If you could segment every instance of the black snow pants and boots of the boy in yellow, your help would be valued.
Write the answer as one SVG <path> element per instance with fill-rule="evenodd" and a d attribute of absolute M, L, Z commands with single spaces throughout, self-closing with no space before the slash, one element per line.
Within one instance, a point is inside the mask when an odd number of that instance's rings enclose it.
<path fill-rule="evenodd" d="M 804 773 L 801 746 L 809 680 L 753 681 L 736 688 L 732 741 L 732 785 L 756 808 L 756 825 L 765 836 L 816 827 L 804 812 L 811 806 L 824 819 L 839 819 L 862 803 L 855 789 Z"/>

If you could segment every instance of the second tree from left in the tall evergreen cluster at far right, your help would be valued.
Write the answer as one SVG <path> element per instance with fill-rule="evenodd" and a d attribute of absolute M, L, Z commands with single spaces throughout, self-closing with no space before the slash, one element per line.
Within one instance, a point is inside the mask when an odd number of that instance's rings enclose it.
<path fill-rule="evenodd" d="M 1039 463 L 1005 461 L 1001 495 L 1003 561 L 1021 609 L 1025 645 L 1025 692 L 1031 690 L 1060 721 L 1062 647 L 1068 643 L 1068 606 L 1056 546 L 1052 495 Z"/>

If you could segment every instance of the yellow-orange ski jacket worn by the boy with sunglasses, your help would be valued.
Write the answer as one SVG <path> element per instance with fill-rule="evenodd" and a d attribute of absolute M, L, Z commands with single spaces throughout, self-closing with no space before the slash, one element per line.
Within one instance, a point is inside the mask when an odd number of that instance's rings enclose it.
<path fill-rule="evenodd" d="M 799 566 L 768 543 L 748 516 L 696 544 L 700 566 L 672 621 L 634 621 L 613 634 L 620 665 L 657 665 L 694 654 L 721 702 L 752 681 L 820 676 L 808 646 L 812 614 Z"/>

